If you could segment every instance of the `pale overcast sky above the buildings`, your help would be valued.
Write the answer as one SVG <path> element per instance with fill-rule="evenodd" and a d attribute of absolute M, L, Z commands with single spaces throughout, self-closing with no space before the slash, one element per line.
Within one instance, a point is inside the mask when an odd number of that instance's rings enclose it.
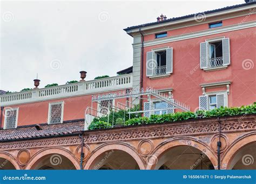
<path fill-rule="evenodd" d="M 2 1 L 0 89 L 20 91 L 115 76 L 132 66 L 132 37 L 124 28 L 241 4 L 240 1 Z"/>

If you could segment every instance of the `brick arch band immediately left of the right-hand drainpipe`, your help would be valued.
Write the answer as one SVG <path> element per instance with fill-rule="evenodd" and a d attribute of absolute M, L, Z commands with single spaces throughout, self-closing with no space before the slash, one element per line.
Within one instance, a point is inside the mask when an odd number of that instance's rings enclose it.
<path fill-rule="evenodd" d="M 166 153 L 166 151 L 177 146 L 192 146 L 197 148 L 201 152 L 204 152 L 214 167 L 217 167 L 218 165 L 217 155 L 215 155 L 214 151 L 212 151 L 207 144 L 193 137 L 177 137 L 165 140 L 152 151 L 147 160 L 150 157 L 153 159 L 159 159 L 164 153 Z M 154 167 L 155 165 L 147 164 L 146 169 L 154 169 Z"/>

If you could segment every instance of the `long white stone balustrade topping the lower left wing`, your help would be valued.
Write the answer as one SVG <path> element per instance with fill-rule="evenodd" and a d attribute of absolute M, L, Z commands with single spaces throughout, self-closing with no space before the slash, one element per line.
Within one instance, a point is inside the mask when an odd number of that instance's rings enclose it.
<path fill-rule="evenodd" d="M 132 73 L 114 77 L 106 77 L 91 81 L 64 84 L 42 89 L 0 95 L 0 106 L 55 98 L 103 93 L 105 91 L 126 89 L 132 87 Z"/>

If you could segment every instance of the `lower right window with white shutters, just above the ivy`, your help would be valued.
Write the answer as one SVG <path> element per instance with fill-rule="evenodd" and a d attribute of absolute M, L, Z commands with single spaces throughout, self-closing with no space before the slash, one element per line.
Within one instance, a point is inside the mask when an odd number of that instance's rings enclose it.
<path fill-rule="evenodd" d="M 227 103 L 227 92 L 199 96 L 200 110 L 212 110 L 214 108 L 227 107 Z"/>

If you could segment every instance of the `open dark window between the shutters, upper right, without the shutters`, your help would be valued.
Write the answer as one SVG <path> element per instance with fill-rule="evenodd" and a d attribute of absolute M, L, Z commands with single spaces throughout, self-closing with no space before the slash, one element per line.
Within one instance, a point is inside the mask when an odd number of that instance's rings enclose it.
<path fill-rule="evenodd" d="M 209 66 L 219 67 L 223 66 L 223 48 L 222 41 L 215 41 L 209 43 Z"/>

